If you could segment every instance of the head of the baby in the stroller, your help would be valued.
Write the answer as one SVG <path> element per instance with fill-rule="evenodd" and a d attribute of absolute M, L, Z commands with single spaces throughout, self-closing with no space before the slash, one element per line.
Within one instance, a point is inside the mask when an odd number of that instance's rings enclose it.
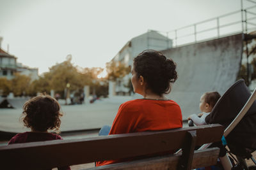
<path fill-rule="evenodd" d="M 211 112 L 218 99 L 220 99 L 220 94 L 218 92 L 206 92 L 200 98 L 200 110 L 205 113 Z"/>

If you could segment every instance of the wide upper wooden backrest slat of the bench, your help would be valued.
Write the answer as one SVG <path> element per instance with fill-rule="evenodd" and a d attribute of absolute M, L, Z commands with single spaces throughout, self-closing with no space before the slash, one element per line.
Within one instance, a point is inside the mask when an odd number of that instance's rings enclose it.
<path fill-rule="evenodd" d="M 138 132 L 0 146 L 0 160 L 3 162 L 1 167 L 3 169 L 10 169 L 10 166 L 13 169 L 20 166 L 28 169 L 28 166 L 30 169 L 60 167 L 166 152 L 186 145 L 187 131 L 196 131 L 196 145 L 202 145 L 220 141 L 223 127 L 213 124 L 170 131 Z"/>

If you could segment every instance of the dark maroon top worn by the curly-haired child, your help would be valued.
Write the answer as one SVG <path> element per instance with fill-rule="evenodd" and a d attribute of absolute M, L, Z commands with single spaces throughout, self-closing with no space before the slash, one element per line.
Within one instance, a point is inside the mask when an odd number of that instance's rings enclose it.
<path fill-rule="evenodd" d="M 56 139 L 62 139 L 58 134 L 52 134 L 47 132 L 24 132 L 19 133 L 13 136 L 10 139 L 8 145 L 14 143 L 29 143 L 29 142 L 36 142 L 36 141 L 51 141 Z M 43 161 L 43 160 L 42 160 Z M 70 170 L 70 167 L 58 167 L 60 170 Z"/>

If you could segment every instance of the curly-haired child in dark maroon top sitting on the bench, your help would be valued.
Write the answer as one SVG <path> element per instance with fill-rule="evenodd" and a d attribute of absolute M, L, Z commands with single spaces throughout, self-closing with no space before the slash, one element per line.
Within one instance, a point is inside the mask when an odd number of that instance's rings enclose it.
<path fill-rule="evenodd" d="M 60 117 L 62 116 L 60 109 L 58 101 L 51 96 L 36 96 L 27 101 L 23 106 L 21 119 L 24 126 L 29 127 L 31 131 L 16 134 L 10 139 L 8 145 L 62 139 L 58 134 L 48 132 L 60 129 Z M 70 167 L 58 169 L 70 169 Z"/>

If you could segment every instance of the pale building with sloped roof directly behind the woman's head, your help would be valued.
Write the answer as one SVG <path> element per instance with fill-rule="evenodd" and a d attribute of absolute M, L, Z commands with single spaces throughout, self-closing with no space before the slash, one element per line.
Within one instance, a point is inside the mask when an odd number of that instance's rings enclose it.
<path fill-rule="evenodd" d="M 166 50 L 172 48 L 172 39 L 157 31 L 148 31 L 128 41 L 110 62 L 122 62 L 125 66 L 132 66 L 134 57 L 143 50 Z M 130 95 L 129 81 L 131 74 L 109 82 L 109 96 Z"/>

